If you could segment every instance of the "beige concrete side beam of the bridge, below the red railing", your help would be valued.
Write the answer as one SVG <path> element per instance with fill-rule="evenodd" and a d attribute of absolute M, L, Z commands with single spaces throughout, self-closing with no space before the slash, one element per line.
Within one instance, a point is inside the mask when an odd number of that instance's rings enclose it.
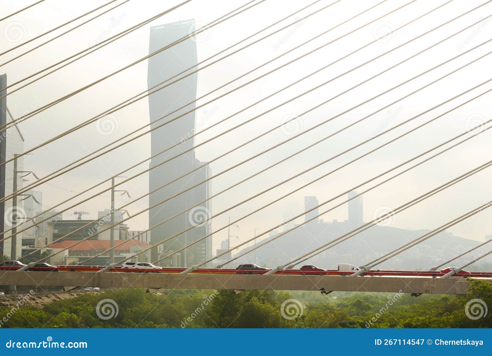
<path fill-rule="evenodd" d="M 0 285 L 466 294 L 464 278 L 221 275 L 115 272 L 0 272 Z"/>

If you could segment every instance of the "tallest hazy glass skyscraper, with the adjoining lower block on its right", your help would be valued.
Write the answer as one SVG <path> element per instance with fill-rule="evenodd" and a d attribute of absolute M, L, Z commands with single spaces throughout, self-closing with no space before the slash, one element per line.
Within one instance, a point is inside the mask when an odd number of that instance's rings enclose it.
<path fill-rule="evenodd" d="M 171 24 L 155 26 L 150 32 L 149 53 L 168 45 L 169 43 L 187 35 L 194 30 L 194 20 L 185 20 Z M 160 82 L 163 82 L 176 74 L 194 67 L 197 64 L 196 43 L 193 39 L 186 39 L 183 42 L 167 49 L 149 59 L 148 86 L 149 89 Z M 179 75 L 177 78 L 182 77 Z M 176 78 L 174 78 L 176 79 Z M 173 80 L 174 80 L 173 79 Z M 166 121 L 181 116 L 193 110 L 195 104 L 192 103 L 184 109 L 173 113 L 166 118 L 157 121 L 159 118 L 174 112 L 186 103 L 196 99 L 197 74 L 191 74 L 186 78 L 164 88 L 149 96 L 149 112 L 151 127 L 155 128 Z M 195 113 L 184 114 L 179 119 L 155 129 L 151 133 L 151 153 L 156 155 L 170 146 L 183 141 L 184 138 L 191 136 L 195 132 Z M 195 158 L 192 150 L 194 139 L 188 139 L 179 146 L 154 157 L 151 160 L 151 167 L 168 160 L 184 151 L 188 151 L 180 157 L 172 159 L 154 169 L 149 173 L 149 189 L 153 191 L 158 187 L 173 181 L 187 172 L 205 164 Z M 211 175 L 210 168 L 205 165 L 191 174 L 180 178 L 176 182 L 150 194 L 149 204 L 152 206 L 159 201 L 169 198 L 195 184 L 205 180 Z M 196 188 L 174 197 L 163 204 L 160 204 L 149 211 L 149 227 L 153 227 L 162 221 L 191 208 L 209 196 L 209 184 L 204 183 Z M 152 230 L 152 243 L 158 243 L 170 236 L 177 234 L 190 226 L 197 226 L 186 233 L 182 233 L 175 238 L 163 243 L 157 249 L 153 249 L 152 260 L 165 257 L 170 252 L 174 252 L 190 242 L 205 236 L 210 231 L 210 222 L 200 224 L 203 217 L 210 217 L 211 207 L 209 203 L 203 203 L 193 208 L 190 212 L 180 214 L 169 222 L 166 222 Z M 202 220 L 200 220 L 202 219 Z M 212 255 L 212 239 L 207 238 L 193 247 L 181 251 L 179 255 L 172 259 L 165 259 L 161 262 L 163 266 L 191 266 Z"/>

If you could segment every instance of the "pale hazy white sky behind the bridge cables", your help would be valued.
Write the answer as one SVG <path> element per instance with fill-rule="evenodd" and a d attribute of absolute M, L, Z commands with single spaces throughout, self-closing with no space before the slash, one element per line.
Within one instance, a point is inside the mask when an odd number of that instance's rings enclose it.
<path fill-rule="evenodd" d="M 321 0 L 266 32 L 262 32 L 262 35 L 274 32 L 275 30 L 292 23 L 296 19 L 314 13 L 316 10 L 334 1 L 335 0 Z M 2 4 L 1 16 L 14 12 L 31 2 L 32 0 L 5 1 Z M 117 3 L 119 2 L 121 1 L 118 1 Z M 312 15 L 297 25 L 289 26 L 287 29 L 228 57 L 220 63 L 201 70 L 198 75 L 198 96 L 205 95 L 218 86 L 227 83 L 256 66 L 276 58 L 286 51 L 329 30 L 342 21 L 349 19 L 378 2 L 380 1 L 341 0 L 339 3 Z M 295 51 L 282 56 L 278 60 L 248 74 L 246 77 L 230 84 L 226 88 L 200 99 L 197 104 L 200 105 L 205 103 L 238 85 L 244 84 L 280 65 L 294 60 L 407 2 L 408 1 L 403 0 L 387 0 L 364 15 L 339 26 L 337 29 L 318 37 Z M 293 64 L 286 65 L 233 94 L 215 100 L 196 111 L 196 120 L 199 126 L 198 130 L 203 130 L 217 121 L 234 114 L 240 109 L 275 93 L 277 90 L 284 88 L 315 70 L 368 44 L 380 34 L 386 33 L 386 31 L 394 31 L 396 28 L 403 26 L 409 21 L 412 21 L 445 2 L 446 1 L 444 0 L 417 0 L 394 14 L 365 26 L 361 30 L 356 31 L 343 39 L 337 40 Z M 422 19 L 405 26 L 396 32 L 392 32 L 389 36 L 371 44 L 357 54 L 349 56 L 347 59 L 331 65 L 308 79 L 301 81 L 292 88 L 282 91 L 262 103 L 247 109 L 239 115 L 235 115 L 224 124 L 220 124 L 213 129 L 199 134 L 196 137 L 196 143 L 203 142 L 207 138 L 210 138 L 225 129 L 238 125 L 292 97 L 300 95 L 355 66 L 361 65 L 364 62 L 479 6 L 483 2 L 485 1 L 451 1 Z M 77 1 L 76 6 L 74 3 L 75 2 L 73 1 L 46 0 L 19 15 L 1 22 L 1 50 L 4 51 L 11 48 L 22 43 L 22 41 L 50 30 L 69 19 L 75 18 L 78 15 L 101 5 L 103 1 Z M 121 7 L 102 15 L 100 18 L 54 40 L 42 48 L 36 49 L 12 63 L 2 65 L 0 73 L 6 72 L 9 82 L 15 82 L 37 70 L 43 69 L 48 65 L 52 65 L 91 46 L 98 38 L 106 38 L 107 36 L 119 33 L 177 3 L 179 3 L 179 1 L 163 2 L 156 0 L 130 0 Z M 71 93 L 84 85 L 102 78 L 108 73 L 146 56 L 149 50 L 150 26 L 194 18 L 197 22 L 197 27 L 200 27 L 243 3 L 244 2 L 237 0 L 193 0 L 180 9 L 155 20 L 150 25 L 132 32 L 130 35 L 94 52 L 84 59 L 68 65 L 56 73 L 13 93 L 8 96 L 8 106 L 14 116 L 20 116 L 26 111 L 45 105 L 58 97 Z M 306 6 L 308 3 L 310 3 L 310 1 L 266 0 L 240 15 L 208 29 L 197 38 L 198 60 L 201 61 L 207 59 L 218 51 L 262 30 L 301 7 Z M 302 114 L 321 102 L 336 96 L 338 93 L 369 79 L 371 76 L 386 68 L 398 64 L 400 61 L 405 60 L 451 34 L 479 21 L 490 15 L 491 12 L 492 3 L 484 5 L 460 19 L 412 41 L 368 65 L 364 65 L 299 99 L 259 117 L 253 122 L 246 124 L 241 129 L 235 129 L 230 133 L 221 136 L 219 139 L 206 143 L 196 149 L 197 158 L 202 161 L 210 161 L 241 143 L 258 136 L 262 132 L 276 127 L 282 120 L 285 120 L 285 118 L 291 118 L 293 115 Z M 77 23 L 80 23 L 81 21 L 82 20 L 79 20 Z M 490 19 L 486 19 L 480 25 L 475 25 L 472 28 L 461 32 L 444 41 L 442 44 L 439 44 L 404 64 L 398 65 L 394 69 L 370 80 L 357 89 L 351 90 L 350 92 L 333 99 L 329 103 L 310 111 L 295 122 L 296 126 L 293 128 L 295 133 L 300 132 L 299 129 L 309 129 L 310 127 L 338 115 L 435 65 L 439 65 L 442 62 L 487 41 L 492 33 L 491 22 Z M 46 38 L 51 38 L 55 34 L 62 33 L 62 30 L 66 30 L 66 28 L 51 33 L 1 56 L 0 62 L 4 63 L 6 60 L 24 53 L 27 49 L 42 43 Z M 257 38 L 260 38 L 260 36 L 255 36 L 253 39 L 247 40 L 245 44 L 250 43 Z M 234 49 L 236 48 L 238 47 L 235 47 Z M 384 96 L 337 117 L 318 129 L 291 140 L 287 144 L 271 150 L 257 159 L 214 179 L 212 182 L 212 193 L 218 192 L 257 171 L 260 171 L 264 167 L 297 152 L 310 143 L 326 137 L 330 133 L 363 118 L 392 101 L 431 83 L 433 80 L 459 68 L 461 65 L 465 65 L 470 61 L 487 54 L 491 50 L 492 44 L 487 43 L 476 50 L 464 54 L 456 60 L 450 61 L 449 63 L 412 80 Z M 231 51 L 232 50 L 229 50 L 226 53 L 230 53 Z M 218 213 L 229 206 L 242 201 L 248 196 L 269 188 L 319 162 L 337 155 L 353 145 L 365 141 L 374 133 L 390 129 L 402 121 L 421 114 L 422 112 L 431 109 L 433 106 L 490 79 L 491 58 L 492 55 L 487 56 L 476 63 L 461 69 L 459 72 L 450 75 L 446 79 L 440 80 L 429 88 L 405 98 L 392 105 L 390 108 L 369 117 L 363 123 L 344 130 L 323 143 L 310 148 L 306 152 L 277 165 L 275 168 L 270 169 L 265 173 L 257 175 L 245 184 L 227 192 L 227 194 L 218 196 L 213 199 L 213 213 Z M 145 91 L 146 88 L 147 61 L 143 61 L 142 63 L 126 69 L 21 123 L 19 126 L 26 138 L 26 149 L 46 141 L 63 130 L 72 128 L 73 126 L 92 118 L 113 105 Z M 332 169 L 359 157 L 372 148 L 445 113 L 464 101 L 491 88 L 492 84 L 487 83 L 449 103 L 419 116 L 408 124 L 405 124 L 388 134 L 382 135 L 380 138 L 377 138 L 370 143 L 362 145 L 348 154 L 342 155 L 307 174 L 291 180 L 267 194 L 263 194 L 238 208 L 222 214 L 213 220 L 213 229 L 217 230 L 226 225 L 229 216 L 243 216 L 257 207 L 275 200 L 277 197 L 314 180 Z M 300 192 L 288 196 L 265 209 L 262 213 L 255 214 L 245 219 L 239 224 L 240 228 L 238 233 L 235 233 L 240 236 L 240 239 L 237 241 L 244 241 L 246 238 L 252 237 L 254 235 L 254 228 L 259 228 L 259 232 L 263 232 L 264 230 L 279 224 L 285 215 L 294 213 L 296 204 L 302 202 L 305 195 L 316 195 L 320 202 L 328 200 L 340 192 L 349 190 L 373 176 L 460 134 L 477 122 L 482 123 L 486 120 L 490 120 L 492 118 L 490 104 L 491 95 L 491 93 L 486 94 L 483 97 L 463 105 L 459 109 L 444 115 L 433 123 L 399 139 L 395 143 L 370 154 L 358 162 L 340 169 L 338 172 L 302 189 Z M 69 162 L 73 162 L 99 147 L 118 139 L 128 132 L 148 124 L 149 113 L 147 99 L 142 99 L 131 106 L 116 112 L 114 118 L 117 123 L 117 129 L 113 130 L 114 132 L 104 135 L 97 130 L 95 124 L 89 125 L 86 128 L 80 129 L 75 133 L 69 134 L 54 143 L 36 150 L 34 155 L 26 158 L 25 169 L 35 171 L 38 176 L 44 176 L 51 171 L 60 168 Z M 211 164 L 213 172 L 219 173 L 237 162 L 242 162 L 248 157 L 292 137 L 289 134 L 291 134 L 291 132 L 288 129 L 277 129 L 263 138 L 248 144 L 246 147 L 235 151 L 233 154 L 213 162 Z M 448 151 L 442 156 L 439 156 L 365 194 L 365 221 L 372 220 L 374 214 L 377 214 L 380 211 L 396 208 L 420 194 L 423 194 L 482 163 L 488 162 L 491 158 L 492 151 L 491 138 L 491 130 L 486 131 Z M 150 136 L 146 135 L 121 149 L 113 151 L 111 154 L 98 158 L 90 164 L 64 174 L 61 177 L 54 179 L 52 181 L 53 185 L 45 184 L 38 189 L 43 192 L 43 208 L 49 208 L 58 201 L 73 195 L 73 193 L 67 192 L 67 190 L 81 192 L 97 182 L 109 178 L 111 175 L 118 173 L 126 167 L 149 156 Z M 131 176 L 147 167 L 148 164 L 146 163 L 132 169 L 124 175 Z M 425 202 L 398 214 L 393 220 L 393 226 L 413 229 L 431 229 L 464 214 L 468 210 L 491 199 L 490 177 L 491 168 L 464 180 L 440 194 L 432 196 Z M 370 186 L 372 186 L 372 184 L 366 185 L 358 189 L 358 191 L 363 191 Z M 103 187 L 109 187 L 109 184 L 106 183 Z M 148 191 L 148 176 L 142 175 L 138 179 L 125 183 L 120 189 L 128 190 L 132 197 L 145 194 Z M 93 192 L 95 193 L 96 191 Z M 85 210 L 91 213 L 90 217 L 95 217 L 98 210 L 109 207 L 108 193 L 103 195 L 105 196 L 81 204 L 76 209 L 71 209 L 67 213 L 71 214 L 73 213 L 73 210 Z M 345 200 L 345 197 L 325 205 L 323 210 L 327 210 L 343 200 Z M 147 206 L 148 200 L 144 198 L 136 201 L 127 209 L 130 214 L 135 214 Z M 320 212 L 321 211 L 322 210 L 320 210 Z M 65 215 L 65 217 L 69 218 L 68 215 Z M 492 210 L 485 211 L 478 219 L 474 220 L 472 224 L 462 223 L 457 227 L 450 229 L 450 231 L 454 233 L 461 231 L 460 233 L 462 233 L 463 237 L 483 241 L 486 234 L 492 233 L 492 226 L 489 223 L 491 217 Z M 346 206 L 340 207 L 326 214 L 322 218 L 328 221 L 331 221 L 332 219 L 345 220 L 347 219 Z M 300 218 L 298 221 L 301 222 L 303 220 L 303 218 Z M 144 213 L 135 217 L 131 220 L 129 225 L 132 229 L 147 228 L 147 214 Z M 467 228 L 463 228 L 465 225 Z M 214 250 L 219 248 L 220 240 L 225 237 L 226 230 L 219 231 L 215 234 Z"/>

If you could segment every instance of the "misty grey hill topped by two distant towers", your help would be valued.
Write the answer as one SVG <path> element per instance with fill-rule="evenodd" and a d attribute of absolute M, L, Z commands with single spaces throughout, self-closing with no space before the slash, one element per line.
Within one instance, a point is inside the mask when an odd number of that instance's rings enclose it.
<path fill-rule="evenodd" d="M 356 192 L 350 192 L 347 194 L 347 199 L 356 195 Z M 364 224 L 362 196 L 358 196 L 354 200 L 352 200 L 352 204 L 347 204 L 347 220 L 325 221 L 323 219 L 315 219 L 305 225 L 297 224 L 289 228 L 280 228 L 274 233 L 270 233 L 268 238 L 264 238 L 261 241 L 264 242 L 267 239 L 275 238 L 276 235 L 284 233 L 283 236 L 275 240 L 275 243 L 259 247 L 256 252 L 249 253 L 226 267 L 234 267 L 238 263 L 256 263 L 260 266 L 266 265 L 273 268 L 296 259 L 318 246 L 344 236 Z M 312 201 L 317 202 L 315 196 L 305 197 L 305 211 L 309 210 L 309 207 L 312 206 Z M 385 213 L 388 213 L 388 211 L 381 213 L 379 216 L 383 216 Z M 308 214 L 305 216 L 307 217 Z M 370 217 L 371 220 L 372 218 Z M 297 267 L 304 264 L 314 264 L 328 269 L 337 269 L 338 263 L 354 263 L 354 261 L 357 261 L 356 263 L 358 265 L 369 263 L 389 251 L 430 232 L 428 229 L 409 230 L 392 227 L 392 219 L 393 217 L 389 217 L 380 224 L 357 233 L 346 241 L 342 241 L 332 248 L 326 249 L 320 254 L 299 263 Z M 258 241 L 258 244 L 261 242 Z M 249 248 L 238 251 L 237 256 L 247 252 L 254 246 L 256 245 L 252 244 Z M 474 241 L 443 231 L 423 243 L 408 249 L 395 258 L 381 263 L 376 269 L 429 269 L 434 265 L 439 265 L 448 259 L 460 255 L 462 252 L 474 246 L 476 246 L 476 242 Z M 472 259 L 472 257 L 478 257 L 483 253 L 484 249 L 479 249 L 470 255 L 456 259 L 452 264 L 463 265 Z M 492 262 L 492 259 L 486 258 L 478 263 L 478 266 L 471 268 L 484 270 L 484 268 L 480 269 L 480 266 L 490 262 Z"/>

